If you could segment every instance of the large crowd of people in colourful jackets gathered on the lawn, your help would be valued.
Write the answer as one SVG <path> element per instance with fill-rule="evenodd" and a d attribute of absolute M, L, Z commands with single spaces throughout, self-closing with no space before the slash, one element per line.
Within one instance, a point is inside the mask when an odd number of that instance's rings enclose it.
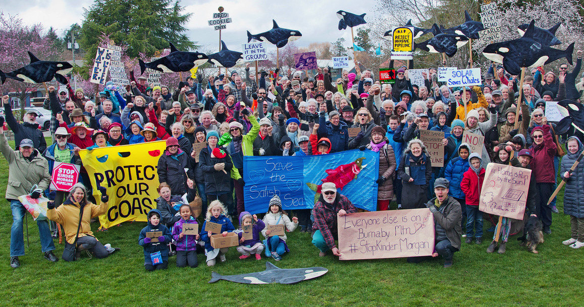
<path fill-rule="evenodd" d="M 582 51 L 577 54 L 575 73 L 579 74 Z M 571 237 L 563 243 L 584 246 L 584 203 L 578 188 L 584 181 L 584 164 L 568 172 L 584 148 L 577 134 L 558 135 L 555 123 L 545 117 L 546 103 L 565 99 L 570 88 L 565 83 L 568 64 L 560 65 L 557 75 L 543 67 L 527 71 L 520 89 L 518 76 L 506 74 L 494 63 L 482 76 L 481 86 L 460 88 L 438 82 L 436 68 L 424 74 L 424 85 L 411 82 L 405 65 L 395 67 L 394 84 L 380 83 L 370 70 L 356 69 L 355 73 L 342 71 L 337 79 L 331 68 L 318 68 L 315 75 L 290 69 L 276 69 L 274 74 L 262 71 L 256 79 L 248 64 L 242 75 L 235 70 L 207 79 L 199 75 L 178 86 L 149 86 L 146 78 L 130 74 L 124 95 L 108 82 L 95 101 L 85 97 L 82 89 L 50 86 L 43 104 L 52 113 L 54 142 L 48 148 L 36 123 L 38 114 L 29 111 L 19 123 L 9 97 L 4 96 L 5 121 L 16 144 L 15 149 L 9 148 L 0 128 L 0 149 L 9 163 L 6 198 L 14 219 L 12 267 L 19 267 L 19 257 L 24 255 L 26 210 L 18 197 L 26 194 L 50 198 L 47 217 L 62 226 L 77 257 L 84 250 L 97 258 L 115 252 L 91 232 L 91 219 L 106 211 L 109 198 L 103 187 L 96 188 L 101 199 L 93 198 L 96 193 L 79 151 L 159 140 L 166 143 L 158 161 L 160 197 L 139 237 L 147 270 L 166 268 L 173 254 L 177 266 L 196 267 L 197 247 L 204 250 L 208 266 L 215 265 L 217 257 L 225 261 L 227 248 L 214 249 L 210 238 L 234 232 L 234 223 L 252 226 L 251 237 L 238 232 L 240 259 L 251 254 L 261 259 L 265 253 L 280 260 L 289 251 L 286 234 L 276 236 L 267 230 L 277 224 L 287 232 L 296 228 L 312 232 L 320 256 L 329 250 L 339 256 L 336 217 L 357 212 L 349 198 L 334 183 L 324 183 L 313 210 L 296 210 L 288 217 L 282 200 L 274 196 L 262 220 L 245 210 L 244 156 L 324 155 L 350 149 L 379 153 L 377 210 L 430 208 L 436 225 L 433 256 L 442 256 L 445 267 L 452 265 L 453 253 L 460 250 L 463 240 L 482 243 L 484 219 L 492 224 L 488 232 L 500 232 L 502 238 L 489 238 L 486 252 L 498 246 L 498 252 L 504 253 L 509 235 L 523 225 L 503 218 L 500 229 L 493 229 L 498 217 L 478 211 L 485 167 L 491 162 L 531 169 L 526 218 L 538 217 L 545 233 L 551 233 L 552 212 L 558 212 L 555 201 L 548 205 L 547 200 L 561 171 L 567 179 L 564 213 L 571 216 L 572 226 Z M 359 128 L 359 133 L 349 137 L 349 128 Z M 443 167 L 432 167 L 420 141 L 422 130 L 444 132 Z M 481 155 L 463 142 L 464 131 L 484 136 Z M 194 152 L 193 144 L 201 142 L 206 146 Z M 55 162 L 81 165 L 81 180 L 71 193 L 48 189 Z M 200 196 L 203 216 L 199 221 L 193 208 L 183 202 L 185 194 L 189 202 Z M 199 222 L 203 222 L 200 235 L 182 232 L 183 224 L 199 226 Z M 221 230 L 203 231 L 207 223 L 221 224 Z M 55 246 L 50 229 L 55 224 L 40 220 L 37 224 L 44 257 L 57 261 L 51 252 Z M 161 235 L 152 237 L 148 232 Z"/>

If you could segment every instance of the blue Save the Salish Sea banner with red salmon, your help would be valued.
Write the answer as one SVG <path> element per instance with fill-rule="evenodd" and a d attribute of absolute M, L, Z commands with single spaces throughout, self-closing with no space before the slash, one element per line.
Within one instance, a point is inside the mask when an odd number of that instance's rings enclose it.
<path fill-rule="evenodd" d="M 245 210 L 267 212 L 270 199 L 278 195 L 284 210 L 312 209 L 324 182 L 334 182 L 337 191 L 356 207 L 377 209 L 379 153 L 354 149 L 314 156 L 245 156 Z"/>

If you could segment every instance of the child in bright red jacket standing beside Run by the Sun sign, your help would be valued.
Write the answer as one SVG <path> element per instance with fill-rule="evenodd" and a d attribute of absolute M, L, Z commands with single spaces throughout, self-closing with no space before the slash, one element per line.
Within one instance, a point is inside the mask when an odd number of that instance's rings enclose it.
<path fill-rule="evenodd" d="M 485 169 L 481 167 L 481 155 L 476 152 L 470 155 L 470 166 L 463 174 L 460 182 L 460 189 L 463 191 L 467 210 L 467 240 L 471 243 L 472 237 L 476 238 L 475 243 L 482 243 L 482 212 L 478 211 L 478 201 L 481 196 L 482 182 L 485 180 Z M 474 228 L 473 228 L 474 227 Z M 474 232 L 474 229 L 477 229 Z"/>

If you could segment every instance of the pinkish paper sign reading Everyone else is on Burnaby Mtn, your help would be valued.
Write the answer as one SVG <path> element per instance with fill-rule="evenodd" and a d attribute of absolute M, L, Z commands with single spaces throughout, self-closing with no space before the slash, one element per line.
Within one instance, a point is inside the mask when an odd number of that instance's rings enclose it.
<path fill-rule="evenodd" d="M 373 211 L 338 217 L 340 260 L 430 256 L 434 217 L 429 209 Z"/>

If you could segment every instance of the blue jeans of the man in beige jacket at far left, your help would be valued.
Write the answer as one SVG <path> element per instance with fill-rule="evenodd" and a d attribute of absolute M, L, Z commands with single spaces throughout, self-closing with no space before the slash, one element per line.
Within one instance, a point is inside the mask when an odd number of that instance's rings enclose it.
<path fill-rule="evenodd" d="M 12 210 L 12 228 L 10 233 L 10 256 L 25 256 L 25 234 L 23 228 L 23 219 L 27 213 L 25 206 L 18 200 L 10 201 Z M 48 221 L 37 219 L 39 226 L 41 252 L 46 253 L 55 249 L 55 243 L 51 238 L 51 231 L 48 228 Z"/>

